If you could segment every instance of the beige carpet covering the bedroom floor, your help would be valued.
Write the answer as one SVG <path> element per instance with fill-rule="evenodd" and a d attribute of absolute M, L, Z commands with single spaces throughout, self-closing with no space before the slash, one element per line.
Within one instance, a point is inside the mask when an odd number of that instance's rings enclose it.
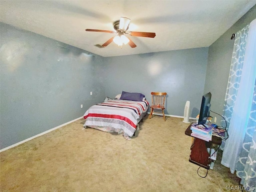
<path fill-rule="evenodd" d="M 1 192 L 222 192 L 238 178 L 220 164 L 206 178 L 188 161 L 191 137 L 181 118 L 144 118 L 131 140 L 84 119 L 1 152 Z M 199 173 L 204 176 L 206 169 Z"/>

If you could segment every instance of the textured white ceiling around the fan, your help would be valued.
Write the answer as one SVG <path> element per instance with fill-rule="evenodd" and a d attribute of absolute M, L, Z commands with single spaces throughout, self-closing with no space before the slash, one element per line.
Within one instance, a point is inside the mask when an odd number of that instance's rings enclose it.
<path fill-rule="evenodd" d="M 120 56 L 208 47 L 241 18 L 255 0 L 202 1 L 0 1 L 0 21 L 70 44 L 100 56 Z M 116 34 L 120 17 L 131 19 L 128 31 L 155 32 L 155 38 L 130 36 L 137 45 L 103 44 Z M 234 32 L 235 33 L 235 32 Z M 231 36 L 231 34 L 230 34 Z"/>

